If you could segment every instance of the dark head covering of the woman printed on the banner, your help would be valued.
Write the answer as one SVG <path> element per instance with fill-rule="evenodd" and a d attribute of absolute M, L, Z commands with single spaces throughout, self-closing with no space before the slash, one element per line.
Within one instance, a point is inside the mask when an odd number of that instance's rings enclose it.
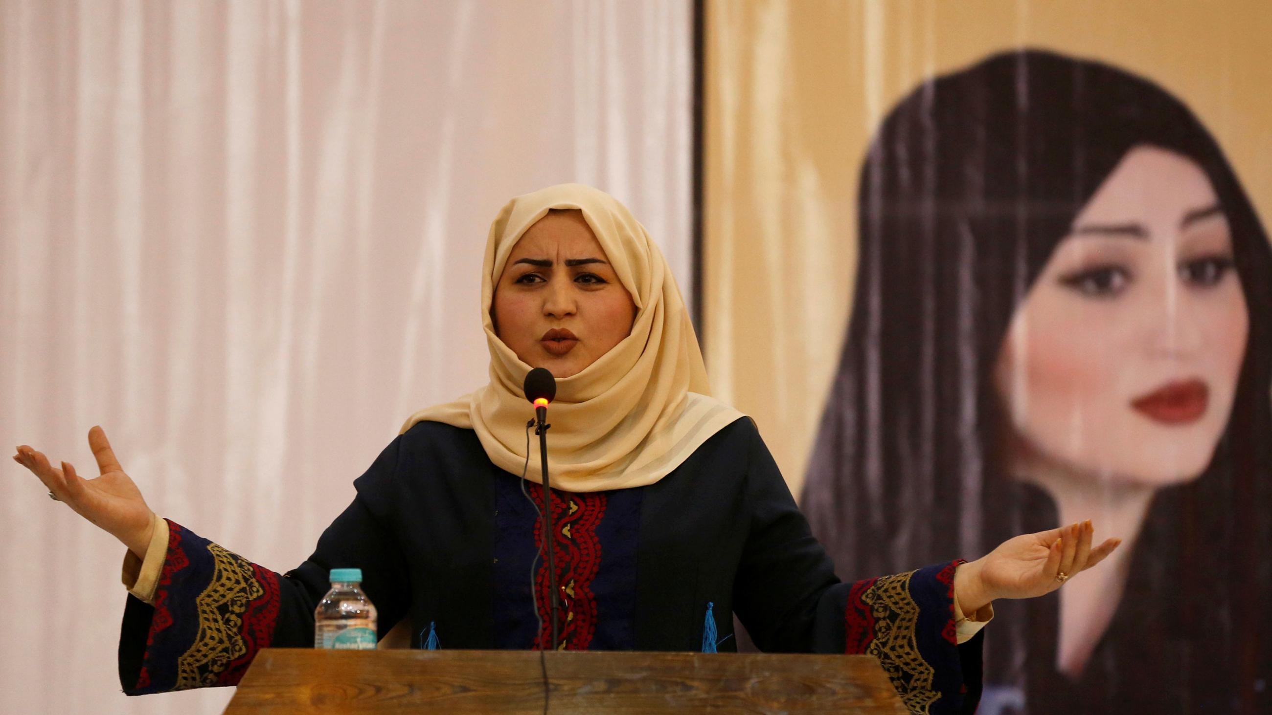
<path fill-rule="evenodd" d="M 996 605 L 987 681 L 1023 687 L 1030 712 L 1253 711 L 1272 690 L 1272 250 L 1217 142 L 1151 81 L 1021 50 L 892 110 L 861 169 L 856 297 L 803 507 L 843 578 L 1058 526 L 1005 469 L 992 366 L 1074 217 L 1137 145 L 1196 161 L 1231 227 L 1250 320 L 1233 414 L 1205 472 L 1158 493 L 1080 687 L 1053 671 L 1054 596 Z"/>

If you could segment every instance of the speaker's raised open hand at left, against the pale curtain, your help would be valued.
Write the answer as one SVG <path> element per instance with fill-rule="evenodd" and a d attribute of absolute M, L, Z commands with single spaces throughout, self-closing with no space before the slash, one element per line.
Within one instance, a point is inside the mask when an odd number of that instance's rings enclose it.
<path fill-rule="evenodd" d="M 154 530 L 154 512 L 141 498 L 137 485 L 123 474 L 100 427 L 88 431 L 88 444 L 102 471 L 102 476 L 95 479 L 84 479 L 75 474 L 75 467 L 69 462 L 62 462 L 62 469 L 55 469 L 45 455 L 25 444 L 18 447 L 18 453 L 13 458 L 36 472 L 59 502 L 106 530 L 139 558 L 145 559 Z"/>

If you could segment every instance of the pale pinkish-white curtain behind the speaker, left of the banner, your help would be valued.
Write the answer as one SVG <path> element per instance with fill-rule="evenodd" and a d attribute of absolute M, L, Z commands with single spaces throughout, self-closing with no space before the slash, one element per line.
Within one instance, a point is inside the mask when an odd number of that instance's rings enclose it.
<path fill-rule="evenodd" d="M 413 410 L 486 380 L 478 267 L 514 194 L 625 201 L 688 295 L 688 0 L 0 0 L 0 444 L 279 571 Z M 127 698 L 123 546 L 11 461 L 0 710 Z"/>

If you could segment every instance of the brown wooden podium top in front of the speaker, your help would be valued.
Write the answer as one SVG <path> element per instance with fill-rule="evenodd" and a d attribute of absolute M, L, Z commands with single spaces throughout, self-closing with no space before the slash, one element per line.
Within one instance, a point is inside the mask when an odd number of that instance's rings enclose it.
<path fill-rule="evenodd" d="M 560 652 L 541 660 L 523 650 L 273 648 L 257 654 L 225 712 L 707 709 L 906 712 L 870 655 Z"/>

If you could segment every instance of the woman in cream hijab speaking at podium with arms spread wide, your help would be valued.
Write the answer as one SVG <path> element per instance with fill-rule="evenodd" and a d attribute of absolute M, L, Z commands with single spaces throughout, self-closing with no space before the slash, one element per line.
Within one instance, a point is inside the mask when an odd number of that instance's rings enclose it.
<path fill-rule="evenodd" d="M 1084 522 L 971 563 L 841 583 L 754 423 L 709 395 L 661 253 L 597 189 L 550 187 L 504 207 L 482 323 L 490 382 L 411 415 L 286 574 L 155 516 L 100 427 L 92 480 L 18 447 L 50 497 L 128 549 L 125 692 L 235 685 L 259 649 L 309 646 L 329 569 L 360 568 L 379 635 L 410 618 L 417 648 L 733 650 L 736 613 L 762 650 L 868 653 L 911 710 L 969 712 L 991 602 L 1054 591 L 1118 545 L 1093 547 Z M 538 558 L 543 479 L 522 390 L 537 367 L 557 378 L 555 579 Z"/>

